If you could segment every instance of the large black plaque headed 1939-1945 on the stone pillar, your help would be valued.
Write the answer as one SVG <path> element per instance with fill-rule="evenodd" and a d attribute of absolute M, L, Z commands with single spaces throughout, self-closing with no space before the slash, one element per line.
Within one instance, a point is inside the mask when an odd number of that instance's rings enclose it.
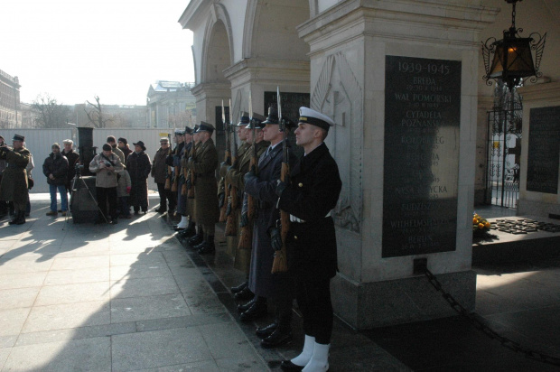
<path fill-rule="evenodd" d="M 383 257 L 455 250 L 461 61 L 386 57 Z"/>

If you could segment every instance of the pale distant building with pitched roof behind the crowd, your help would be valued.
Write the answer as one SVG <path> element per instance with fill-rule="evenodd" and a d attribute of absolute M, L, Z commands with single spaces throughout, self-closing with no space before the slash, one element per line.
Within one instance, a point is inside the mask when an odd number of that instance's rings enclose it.
<path fill-rule="evenodd" d="M 148 89 L 149 128 L 174 128 L 196 124 L 196 98 L 191 93 L 194 83 L 158 80 Z"/>

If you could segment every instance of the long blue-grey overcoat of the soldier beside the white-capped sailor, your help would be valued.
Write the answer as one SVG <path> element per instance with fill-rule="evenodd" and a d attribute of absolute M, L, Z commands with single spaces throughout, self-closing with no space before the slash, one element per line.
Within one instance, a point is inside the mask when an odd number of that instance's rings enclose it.
<path fill-rule="evenodd" d="M 258 160 L 258 175 L 245 183 L 245 192 L 255 198 L 257 213 L 253 225 L 253 249 L 249 270 L 249 289 L 258 296 L 282 298 L 293 296 L 294 284 L 288 273 L 272 274 L 275 251 L 270 243 L 269 228 L 276 226 L 280 212 L 276 209 L 276 182 L 282 170 L 282 143 Z M 290 163 L 294 163 L 290 152 Z"/>

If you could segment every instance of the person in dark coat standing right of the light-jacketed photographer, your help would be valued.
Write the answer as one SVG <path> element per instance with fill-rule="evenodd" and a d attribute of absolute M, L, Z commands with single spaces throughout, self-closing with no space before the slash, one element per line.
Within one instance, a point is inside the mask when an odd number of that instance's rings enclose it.
<path fill-rule="evenodd" d="M 145 153 L 144 142 L 138 141 L 134 145 L 135 151 L 128 155 L 126 170 L 132 181 L 129 202 L 137 215 L 140 209 L 144 213 L 148 210 L 148 176 L 152 171 L 152 163 L 150 156 Z"/>

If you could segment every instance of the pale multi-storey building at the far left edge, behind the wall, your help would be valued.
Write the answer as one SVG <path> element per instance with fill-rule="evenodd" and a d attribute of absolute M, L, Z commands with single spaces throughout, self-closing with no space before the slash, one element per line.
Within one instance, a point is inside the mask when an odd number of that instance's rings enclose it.
<path fill-rule="evenodd" d="M 20 112 L 20 82 L 0 70 L 0 127 L 16 128 L 22 125 Z"/>

